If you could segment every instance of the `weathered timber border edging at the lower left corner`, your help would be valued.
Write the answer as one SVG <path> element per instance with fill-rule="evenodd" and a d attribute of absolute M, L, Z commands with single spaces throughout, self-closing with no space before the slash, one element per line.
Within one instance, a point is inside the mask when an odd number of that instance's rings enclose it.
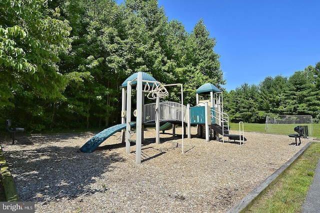
<path fill-rule="evenodd" d="M 13 177 L 10 173 L 9 167 L 4 159 L 2 147 L 0 146 L 0 172 L 2 175 L 2 183 L 6 201 L 18 202 L 20 201 L 19 195 L 16 191 Z"/>

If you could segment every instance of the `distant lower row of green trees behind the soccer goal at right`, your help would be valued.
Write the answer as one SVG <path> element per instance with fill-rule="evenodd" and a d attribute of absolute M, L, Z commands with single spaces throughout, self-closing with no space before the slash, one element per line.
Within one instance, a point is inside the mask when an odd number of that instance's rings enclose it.
<path fill-rule="evenodd" d="M 290 77 L 266 77 L 258 86 L 242 84 L 225 93 L 224 106 L 231 121 L 264 121 L 266 115 L 311 115 L 320 121 L 320 63 Z"/>

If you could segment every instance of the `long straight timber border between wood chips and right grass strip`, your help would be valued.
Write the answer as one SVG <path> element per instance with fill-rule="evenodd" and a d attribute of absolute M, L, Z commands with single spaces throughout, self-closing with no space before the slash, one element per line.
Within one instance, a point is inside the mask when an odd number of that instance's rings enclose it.
<path fill-rule="evenodd" d="M 272 175 L 266 178 L 259 186 L 249 192 L 239 203 L 234 205 L 227 213 L 243 213 L 254 201 L 270 188 L 283 174 L 283 172 L 309 147 L 312 142 L 308 142 L 301 150 L 299 150 L 290 160 L 277 169 Z"/>

